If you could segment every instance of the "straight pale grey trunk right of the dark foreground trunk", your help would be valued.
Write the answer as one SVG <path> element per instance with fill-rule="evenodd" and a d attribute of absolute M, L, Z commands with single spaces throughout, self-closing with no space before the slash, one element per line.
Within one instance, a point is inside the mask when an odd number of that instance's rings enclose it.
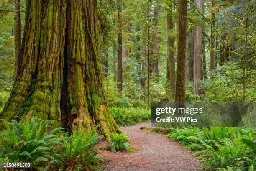
<path fill-rule="evenodd" d="M 202 13 L 202 0 L 194 0 L 194 4 Z M 201 94 L 199 80 L 202 80 L 202 27 L 195 26 L 194 28 L 194 94 Z"/>

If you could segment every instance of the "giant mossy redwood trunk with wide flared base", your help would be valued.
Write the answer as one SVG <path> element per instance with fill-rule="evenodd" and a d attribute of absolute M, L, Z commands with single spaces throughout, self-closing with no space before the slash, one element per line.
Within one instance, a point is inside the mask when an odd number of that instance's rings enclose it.
<path fill-rule="evenodd" d="M 27 0 L 18 71 L 0 118 L 119 130 L 102 87 L 97 0 Z"/>

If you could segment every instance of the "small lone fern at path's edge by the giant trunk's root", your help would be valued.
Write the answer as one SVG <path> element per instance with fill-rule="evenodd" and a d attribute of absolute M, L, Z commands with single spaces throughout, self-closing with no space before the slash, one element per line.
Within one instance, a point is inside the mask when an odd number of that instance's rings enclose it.
<path fill-rule="evenodd" d="M 109 145 L 105 145 L 104 149 L 108 149 L 112 152 L 115 151 L 133 151 L 129 144 L 129 140 L 127 135 L 124 133 L 116 133 L 112 135 L 112 138 L 108 140 L 110 142 Z"/>

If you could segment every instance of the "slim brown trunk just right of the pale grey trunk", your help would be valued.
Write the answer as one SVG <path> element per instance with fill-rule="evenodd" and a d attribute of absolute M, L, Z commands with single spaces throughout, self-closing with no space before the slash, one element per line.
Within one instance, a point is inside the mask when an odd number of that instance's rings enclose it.
<path fill-rule="evenodd" d="M 213 78 L 214 76 L 214 68 L 215 68 L 215 53 L 214 53 L 214 24 L 215 24 L 215 12 L 214 12 L 214 8 L 215 8 L 215 0 L 212 0 L 212 15 L 211 15 L 211 40 L 210 40 L 210 48 L 211 48 L 211 52 L 210 52 L 210 78 Z"/>

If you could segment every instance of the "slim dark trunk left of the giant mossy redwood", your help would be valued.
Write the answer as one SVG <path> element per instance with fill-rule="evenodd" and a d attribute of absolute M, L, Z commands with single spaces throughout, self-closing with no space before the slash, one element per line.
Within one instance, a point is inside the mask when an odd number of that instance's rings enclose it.
<path fill-rule="evenodd" d="M 20 23 L 20 0 L 16 0 L 13 5 L 14 10 L 14 48 L 15 48 L 15 69 L 14 77 L 17 77 L 18 63 L 20 63 L 20 48 L 21 48 L 21 23 Z"/>

